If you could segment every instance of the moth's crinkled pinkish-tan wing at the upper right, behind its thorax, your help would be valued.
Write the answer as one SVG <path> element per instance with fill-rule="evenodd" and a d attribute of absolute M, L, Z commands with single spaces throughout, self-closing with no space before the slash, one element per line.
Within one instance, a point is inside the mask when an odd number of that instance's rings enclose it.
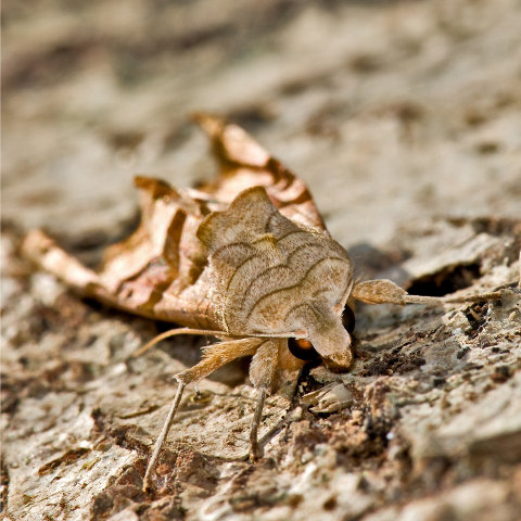
<path fill-rule="evenodd" d="M 219 177 L 201 188 L 230 203 L 250 187 L 264 187 L 274 205 L 289 219 L 325 231 L 326 225 L 302 179 L 271 157 L 244 129 L 209 114 L 194 119 L 212 140 Z"/>

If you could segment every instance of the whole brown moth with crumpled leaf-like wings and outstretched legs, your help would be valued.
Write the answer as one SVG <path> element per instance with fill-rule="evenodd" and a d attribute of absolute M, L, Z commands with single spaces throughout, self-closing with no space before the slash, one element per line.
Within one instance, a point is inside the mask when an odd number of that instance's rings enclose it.
<path fill-rule="evenodd" d="M 251 428 L 251 459 L 268 393 L 284 371 L 319 356 L 338 371 L 350 368 L 354 300 L 369 304 L 460 300 L 409 295 L 390 280 L 356 283 L 346 251 L 326 229 L 304 182 L 244 130 L 203 114 L 220 175 L 199 190 L 176 190 L 137 177 L 141 224 L 109 247 L 98 271 L 81 265 L 42 231 L 30 232 L 27 256 L 78 292 L 119 309 L 185 328 L 174 334 L 220 340 L 202 360 L 176 376 L 177 393 L 155 443 L 143 488 L 191 382 L 242 356 L 253 356 L 250 379 L 258 390 Z M 478 300 L 498 297 L 491 293 Z M 468 300 L 475 300 L 470 297 Z"/>

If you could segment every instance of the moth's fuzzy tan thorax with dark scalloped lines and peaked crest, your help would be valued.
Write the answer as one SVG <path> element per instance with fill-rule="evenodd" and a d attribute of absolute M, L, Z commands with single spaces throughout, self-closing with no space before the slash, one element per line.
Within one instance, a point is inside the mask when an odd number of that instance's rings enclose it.
<path fill-rule="evenodd" d="M 297 226 L 262 187 L 211 214 L 198 237 L 207 246 L 214 300 L 232 334 L 279 334 L 294 309 L 314 300 L 342 312 L 353 283 L 345 250 L 327 233 Z"/>

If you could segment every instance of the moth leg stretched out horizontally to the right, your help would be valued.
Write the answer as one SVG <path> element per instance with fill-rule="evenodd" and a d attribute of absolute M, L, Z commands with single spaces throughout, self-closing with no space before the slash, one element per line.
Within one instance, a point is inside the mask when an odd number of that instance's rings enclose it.
<path fill-rule="evenodd" d="M 499 292 L 481 293 L 478 295 L 452 297 L 452 296 L 423 296 L 409 295 L 403 288 L 387 279 L 366 280 L 355 284 L 353 297 L 367 304 L 457 304 L 465 302 L 482 302 L 500 298 Z"/>

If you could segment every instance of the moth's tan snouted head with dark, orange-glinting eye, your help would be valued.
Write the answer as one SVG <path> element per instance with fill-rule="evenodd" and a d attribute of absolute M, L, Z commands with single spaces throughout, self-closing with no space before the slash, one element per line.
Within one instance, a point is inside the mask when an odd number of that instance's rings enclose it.
<path fill-rule="evenodd" d="M 289 339 L 290 351 L 301 359 L 306 359 L 306 355 L 307 359 L 313 359 L 315 351 L 329 369 L 346 371 L 353 363 L 353 355 L 351 334 L 343 317 L 352 315 L 350 312 L 339 316 L 325 301 L 303 304 L 292 317 L 301 327 L 302 338 Z"/>

